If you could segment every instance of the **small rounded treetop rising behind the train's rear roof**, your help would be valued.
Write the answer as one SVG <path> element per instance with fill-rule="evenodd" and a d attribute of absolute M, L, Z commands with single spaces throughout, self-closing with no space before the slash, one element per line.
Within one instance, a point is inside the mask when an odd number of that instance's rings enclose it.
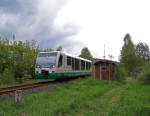
<path fill-rule="evenodd" d="M 89 49 L 87 47 L 84 47 L 81 50 L 81 54 L 79 55 L 79 57 L 86 58 L 86 59 L 89 59 L 89 60 L 93 60 L 93 56 L 91 55 L 91 52 L 89 51 Z"/>

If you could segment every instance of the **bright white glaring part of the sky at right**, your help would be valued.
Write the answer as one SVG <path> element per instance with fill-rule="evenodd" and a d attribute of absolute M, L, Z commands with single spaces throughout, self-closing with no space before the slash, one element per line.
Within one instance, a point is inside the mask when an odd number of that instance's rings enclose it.
<path fill-rule="evenodd" d="M 102 58 L 106 44 L 106 54 L 117 60 L 126 33 L 135 43 L 150 45 L 149 5 L 149 0 L 69 0 L 56 21 L 79 25 L 80 33 L 75 38 L 87 45 L 95 57 Z"/>

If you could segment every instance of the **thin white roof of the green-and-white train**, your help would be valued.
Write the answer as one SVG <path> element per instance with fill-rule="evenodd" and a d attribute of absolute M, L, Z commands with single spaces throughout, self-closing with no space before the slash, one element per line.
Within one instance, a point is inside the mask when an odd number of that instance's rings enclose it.
<path fill-rule="evenodd" d="M 54 53 L 54 52 L 65 54 L 67 56 L 70 56 L 70 57 L 73 57 L 73 58 L 77 58 L 77 59 L 80 59 L 80 60 L 84 60 L 84 61 L 87 61 L 87 62 L 92 62 L 91 60 L 88 60 L 88 59 L 85 59 L 85 58 L 81 58 L 81 57 L 78 57 L 78 56 L 75 56 L 75 55 L 72 55 L 72 54 L 69 54 L 69 53 L 66 53 L 66 52 L 61 52 L 61 51 L 39 52 L 39 53 Z"/>

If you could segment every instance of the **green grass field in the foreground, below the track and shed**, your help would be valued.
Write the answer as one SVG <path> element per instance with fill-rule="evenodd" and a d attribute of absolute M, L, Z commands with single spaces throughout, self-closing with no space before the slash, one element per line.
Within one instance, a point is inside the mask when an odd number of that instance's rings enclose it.
<path fill-rule="evenodd" d="M 28 94 L 17 106 L 0 99 L 0 116 L 149 116 L 150 86 L 78 79 Z"/>

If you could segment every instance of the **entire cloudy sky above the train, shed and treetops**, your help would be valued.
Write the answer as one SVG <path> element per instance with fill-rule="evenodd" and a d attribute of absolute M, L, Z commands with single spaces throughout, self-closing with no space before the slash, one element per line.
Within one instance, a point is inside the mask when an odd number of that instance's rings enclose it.
<path fill-rule="evenodd" d="M 0 0 L 0 36 L 37 40 L 41 48 L 118 60 L 123 38 L 150 45 L 149 0 Z"/>

